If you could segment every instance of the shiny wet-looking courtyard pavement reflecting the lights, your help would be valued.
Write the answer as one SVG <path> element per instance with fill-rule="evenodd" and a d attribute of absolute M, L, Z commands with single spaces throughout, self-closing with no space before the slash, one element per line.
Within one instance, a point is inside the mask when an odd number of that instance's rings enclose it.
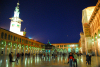
<path fill-rule="evenodd" d="M 16 56 L 13 60 L 16 59 Z M 77 59 L 78 67 L 100 67 L 100 57 L 92 56 L 91 65 L 86 65 L 85 55 Z M 39 56 L 24 56 L 19 58 L 17 62 L 9 62 L 8 56 L 0 56 L 0 67 L 69 67 L 68 56 L 58 56 L 57 58 Z"/>

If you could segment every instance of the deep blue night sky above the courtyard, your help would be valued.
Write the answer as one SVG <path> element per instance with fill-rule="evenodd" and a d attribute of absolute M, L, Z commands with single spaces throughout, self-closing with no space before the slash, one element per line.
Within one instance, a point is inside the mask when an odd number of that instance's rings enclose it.
<path fill-rule="evenodd" d="M 20 18 L 26 36 L 39 42 L 79 42 L 82 10 L 98 0 L 19 0 Z M 9 30 L 18 0 L 0 0 L 0 27 Z M 68 35 L 68 36 L 67 36 Z"/>

